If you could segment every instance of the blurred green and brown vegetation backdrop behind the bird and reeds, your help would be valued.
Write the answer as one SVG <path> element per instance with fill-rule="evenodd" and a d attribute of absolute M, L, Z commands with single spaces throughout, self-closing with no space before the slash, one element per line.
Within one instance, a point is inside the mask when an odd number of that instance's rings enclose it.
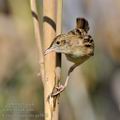
<path fill-rule="evenodd" d="M 38 0 L 42 13 L 42 0 Z M 120 120 L 120 1 L 63 0 L 63 33 L 85 17 L 95 55 L 60 97 L 60 120 Z M 71 65 L 63 56 L 63 81 Z M 44 119 L 29 0 L 0 0 L 0 120 Z"/>

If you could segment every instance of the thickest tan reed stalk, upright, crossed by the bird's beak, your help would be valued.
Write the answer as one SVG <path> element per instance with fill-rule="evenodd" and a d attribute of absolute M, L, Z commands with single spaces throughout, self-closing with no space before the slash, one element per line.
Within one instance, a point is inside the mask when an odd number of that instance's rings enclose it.
<path fill-rule="evenodd" d="M 43 33 L 45 49 L 49 47 L 56 36 L 56 0 L 43 0 Z M 45 56 L 44 104 L 45 120 L 58 120 L 58 109 L 54 109 L 54 98 L 51 95 L 55 85 L 56 55 Z"/>

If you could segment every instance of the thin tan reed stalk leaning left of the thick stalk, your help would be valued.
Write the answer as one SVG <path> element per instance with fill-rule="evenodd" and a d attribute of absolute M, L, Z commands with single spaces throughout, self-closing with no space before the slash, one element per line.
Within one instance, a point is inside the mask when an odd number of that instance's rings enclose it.
<path fill-rule="evenodd" d="M 40 76 L 41 80 L 44 85 L 44 55 L 43 55 L 43 49 L 42 49 L 42 40 L 41 40 L 41 28 L 40 23 L 38 19 L 38 13 L 37 13 L 37 7 L 36 7 L 36 0 L 30 0 L 31 5 L 31 12 L 32 12 L 32 18 L 33 18 L 33 25 L 34 25 L 34 34 L 35 34 L 35 40 L 38 50 L 38 61 L 40 65 Z"/>

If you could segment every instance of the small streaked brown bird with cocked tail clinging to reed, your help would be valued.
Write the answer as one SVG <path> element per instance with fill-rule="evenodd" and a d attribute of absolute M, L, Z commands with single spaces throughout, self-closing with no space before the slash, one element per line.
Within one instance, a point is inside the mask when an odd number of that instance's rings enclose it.
<path fill-rule="evenodd" d="M 66 34 L 56 36 L 50 47 L 45 50 L 45 55 L 52 51 L 63 53 L 69 61 L 74 63 L 68 71 L 65 84 L 58 86 L 53 96 L 60 94 L 66 88 L 71 72 L 94 55 L 94 41 L 88 31 L 88 21 L 84 18 L 77 18 L 76 28 Z"/>

